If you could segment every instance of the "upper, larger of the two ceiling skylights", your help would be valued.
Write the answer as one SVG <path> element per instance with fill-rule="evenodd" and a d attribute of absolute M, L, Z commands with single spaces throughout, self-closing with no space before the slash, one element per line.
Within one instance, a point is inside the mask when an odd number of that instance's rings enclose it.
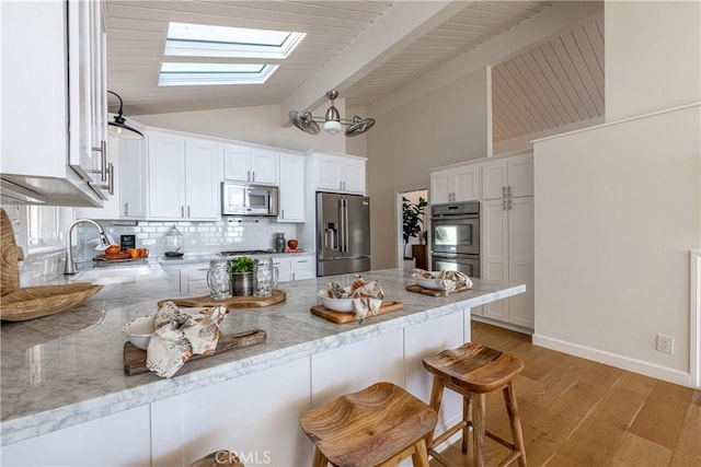
<path fill-rule="evenodd" d="M 170 23 L 165 56 L 285 59 L 304 33 Z"/>

